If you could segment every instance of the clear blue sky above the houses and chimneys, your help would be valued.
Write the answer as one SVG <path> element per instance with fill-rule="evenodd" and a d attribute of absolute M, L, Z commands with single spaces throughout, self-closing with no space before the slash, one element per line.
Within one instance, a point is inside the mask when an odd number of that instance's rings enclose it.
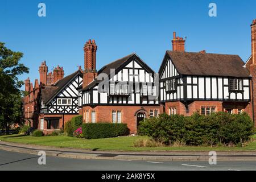
<path fill-rule="evenodd" d="M 38 16 L 41 2 L 45 17 Z M 216 3 L 217 16 L 209 16 L 210 3 Z M 32 82 L 43 60 L 49 71 L 63 67 L 65 76 L 83 67 L 88 39 L 98 46 L 98 70 L 135 52 L 158 72 L 174 31 L 187 37 L 185 51 L 234 54 L 246 61 L 255 8 L 255 0 L 0 0 L 0 42 L 24 53 L 21 62 L 30 73 L 19 78 Z"/>

